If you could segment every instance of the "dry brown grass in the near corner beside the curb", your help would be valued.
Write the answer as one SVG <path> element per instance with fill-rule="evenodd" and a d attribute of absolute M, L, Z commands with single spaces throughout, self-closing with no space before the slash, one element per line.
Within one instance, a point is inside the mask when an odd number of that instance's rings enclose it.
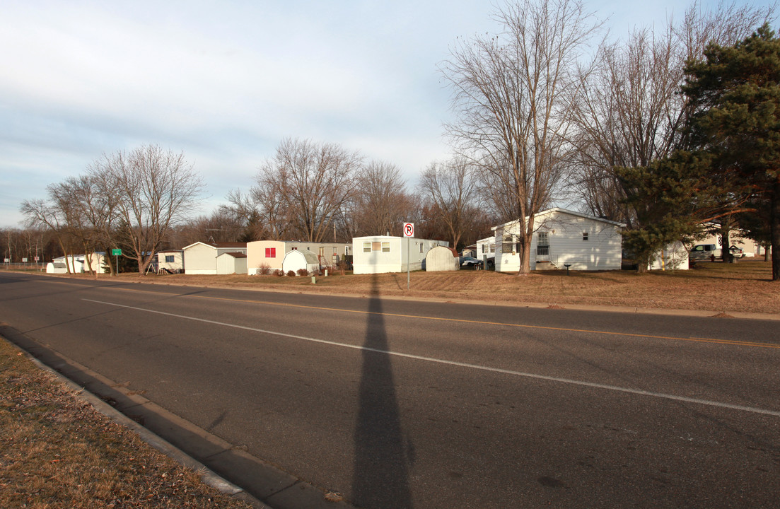
<path fill-rule="evenodd" d="M 238 509 L 0 340 L 0 507 Z"/>

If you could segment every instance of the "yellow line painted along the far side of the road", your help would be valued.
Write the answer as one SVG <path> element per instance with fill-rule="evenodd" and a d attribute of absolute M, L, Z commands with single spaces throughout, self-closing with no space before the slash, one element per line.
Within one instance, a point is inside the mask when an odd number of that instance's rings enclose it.
<path fill-rule="evenodd" d="M 541 330 L 560 330 L 562 332 L 584 332 L 588 334 L 604 334 L 611 336 L 625 336 L 628 338 L 651 338 L 651 339 L 668 339 L 672 341 L 691 341 L 696 343 L 715 343 L 718 345 L 734 345 L 734 346 L 753 346 L 758 348 L 780 348 L 780 345 L 772 345 L 771 343 L 758 343 L 754 341 L 736 341 L 729 339 L 715 339 L 715 338 L 680 338 L 675 336 L 656 336 L 653 334 L 632 334 L 629 332 L 613 332 L 611 330 L 587 330 L 587 329 L 573 329 L 567 327 L 549 327 L 544 325 L 527 325 L 523 323 L 505 323 L 505 322 L 488 322 L 483 320 L 464 320 L 463 318 L 442 318 L 439 316 L 420 316 L 420 315 L 403 315 L 398 313 L 378 313 L 376 311 L 363 311 L 360 309 L 341 309 L 341 308 L 328 308 L 321 306 L 307 306 L 303 304 L 289 304 L 285 302 L 270 302 L 261 300 L 246 300 L 246 299 L 229 299 L 227 297 L 210 297 L 208 295 L 182 295 L 177 293 L 167 292 L 151 292 L 149 290 L 136 290 L 133 288 L 107 288 L 111 290 L 124 290 L 127 292 L 146 292 L 154 293 L 155 295 L 175 295 L 179 297 L 190 297 L 193 299 L 211 299 L 222 300 L 227 302 L 244 302 L 251 304 L 261 304 L 265 306 L 284 306 L 290 308 L 299 309 L 317 309 L 320 311 L 340 311 L 342 313 L 358 313 L 363 315 L 380 315 L 380 316 L 395 316 L 397 318 L 416 318 L 417 320 L 436 320 L 441 322 L 456 322 L 456 323 L 474 323 L 477 325 L 502 325 L 506 327 L 523 327 L 527 329 L 541 329 Z"/>

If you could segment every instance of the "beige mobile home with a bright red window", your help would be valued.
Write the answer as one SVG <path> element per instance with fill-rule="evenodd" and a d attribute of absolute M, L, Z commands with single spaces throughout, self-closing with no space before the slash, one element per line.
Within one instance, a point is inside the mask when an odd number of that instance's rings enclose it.
<path fill-rule="evenodd" d="M 339 242 L 300 242 L 282 240 L 258 240 L 246 245 L 246 269 L 248 274 L 259 274 L 261 267 L 282 269 L 285 255 L 290 251 L 309 251 L 317 256 L 320 267 L 335 267 L 336 263 L 352 254 L 350 244 Z M 319 268 L 319 267 L 317 267 Z"/>

